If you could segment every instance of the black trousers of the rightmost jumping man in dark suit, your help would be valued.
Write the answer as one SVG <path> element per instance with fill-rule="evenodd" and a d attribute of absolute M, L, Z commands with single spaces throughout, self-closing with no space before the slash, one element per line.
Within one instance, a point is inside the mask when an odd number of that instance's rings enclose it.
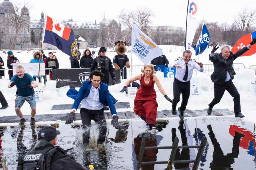
<path fill-rule="evenodd" d="M 240 95 L 233 84 L 232 80 L 229 80 L 228 82 L 225 82 L 225 84 L 216 84 L 214 83 L 214 99 L 209 104 L 210 107 L 213 107 L 217 103 L 220 102 L 225 90 L 229 92 L 229 94 L 234 97 L 234 112 L 240 113 L 241 112 L 241 106 L 240 106 Z"/>

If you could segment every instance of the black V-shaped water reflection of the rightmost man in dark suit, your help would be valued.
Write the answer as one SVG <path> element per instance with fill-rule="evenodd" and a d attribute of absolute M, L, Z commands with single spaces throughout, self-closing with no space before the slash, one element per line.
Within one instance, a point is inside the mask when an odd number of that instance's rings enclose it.
<path fill-rule="evenodd" d="M 213 156 L 212 156 L 213 160 L 210 163 L 210 168 L 212 170 L 233 169 L 231 168 L 231 165 L 234 163 L 234 159 L 238 157 L 240 138 L 244 137 L 244 135 L 242 133 L 235 132 L 234 139 L 233 139 L 232 152 L 224 156 L 224 153 L 220 147 L 220 144 L 215 138 L 215 135 L 212 130 L 212 126 L 208 125 L 207 128 L 209 130 L 208 135 L 214 147 Z"/>

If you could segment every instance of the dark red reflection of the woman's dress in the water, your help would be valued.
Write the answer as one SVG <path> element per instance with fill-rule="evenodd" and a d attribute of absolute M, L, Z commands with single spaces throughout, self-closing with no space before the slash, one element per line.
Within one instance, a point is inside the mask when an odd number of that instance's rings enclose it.
<path fill-rule="evenodd" d="M 139 136 L 134 138 L 134 151 L 136 154 L 136 159 L 138 161 L 139 159 L 139 153 L 140 153 L 140 145 L 141 145 L 141 140 Z M 146 138 L 146 145 L 145 146 L 156 146 L 156 137 L 155 139 L 147 139 Z M 148 161 L 156 161 L 156 154 L 158 152 L 158 149 L 154 150 L 144 150 L 143 154 L 143 162 L 148 162 Z M 142 170 L 153 170 L 155 165 L 141 165 Z"/>

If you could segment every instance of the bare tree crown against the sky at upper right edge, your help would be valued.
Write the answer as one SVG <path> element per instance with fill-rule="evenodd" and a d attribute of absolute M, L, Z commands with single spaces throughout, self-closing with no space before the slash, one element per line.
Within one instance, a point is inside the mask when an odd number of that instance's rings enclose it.
<path fill-rule="evenodd" d="M 235 23 L 240 31 L 245 33 L 251 32 L 252 25 L 256 22 L 256 9 L 249 11 L 243 9 L 235 18 Z"/>

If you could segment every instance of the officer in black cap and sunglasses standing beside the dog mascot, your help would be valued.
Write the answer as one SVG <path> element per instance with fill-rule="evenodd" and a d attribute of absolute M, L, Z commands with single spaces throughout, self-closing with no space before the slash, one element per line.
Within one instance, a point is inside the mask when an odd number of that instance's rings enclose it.
<path fill-rule="evenodd" d="M 106 48 L 105 47 L 100 47 L 100 55 L 99 57 L 95 58 L 92 61 L 92 66 L 91 66 L 91 71 L 97 69 L 101 71 L 104 74 L 103 80 L 101 82 L 109 85 L 109 74 L 110 72 L 111 77 L 112 77 L 112 85 L 116 83 L 116 77 L 114 74 L 114 68 L 112 65 L 111 60 L 106 56 Z"/>

